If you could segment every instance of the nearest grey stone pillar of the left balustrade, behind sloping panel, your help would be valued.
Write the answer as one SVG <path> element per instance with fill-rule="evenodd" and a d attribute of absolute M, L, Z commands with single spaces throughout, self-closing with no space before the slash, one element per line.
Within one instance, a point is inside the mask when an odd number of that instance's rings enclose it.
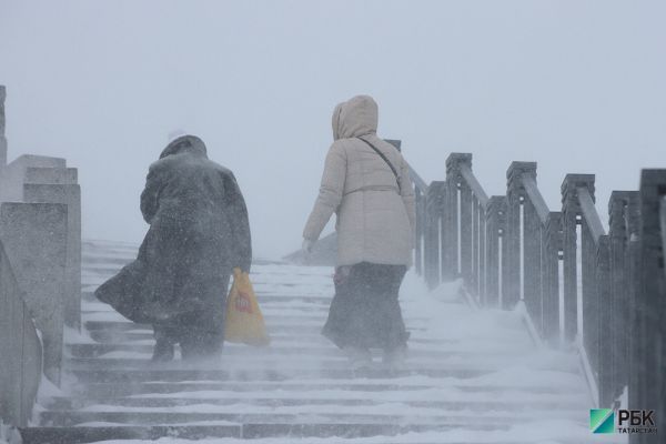
<path fill-rule="evenodd" d="M 3 203 L 0 240 L 42 333 L 44 374 L 60 384 L 68 208 L 58 203 Z"/>

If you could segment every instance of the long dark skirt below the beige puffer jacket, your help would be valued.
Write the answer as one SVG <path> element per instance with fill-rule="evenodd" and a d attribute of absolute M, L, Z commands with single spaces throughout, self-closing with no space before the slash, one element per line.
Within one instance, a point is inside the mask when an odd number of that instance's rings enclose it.
<path fill-rule="evenodd" d="M 406 266 L 363 262 L 335 271 L 335 296 L 322 334 L 335 345 L 394 350 L 410 337 L 397 301 Z"/>

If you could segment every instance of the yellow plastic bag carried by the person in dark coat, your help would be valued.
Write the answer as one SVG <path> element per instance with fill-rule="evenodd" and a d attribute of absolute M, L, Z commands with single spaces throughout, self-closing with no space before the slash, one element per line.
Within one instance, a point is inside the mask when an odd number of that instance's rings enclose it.
<path fill-rule="evenodd" d="M 248 345 L 271 343 L 250 276 L 241 269 L 233 269 L 233 284 L 226 299 L 224 340 Z"/>

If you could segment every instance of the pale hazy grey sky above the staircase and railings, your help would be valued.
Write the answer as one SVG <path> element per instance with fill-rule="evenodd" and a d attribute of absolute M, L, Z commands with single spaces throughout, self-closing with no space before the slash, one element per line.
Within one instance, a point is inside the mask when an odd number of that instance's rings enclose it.
<path fill-rule="evenodd" d="M 559 208 L 567 172 L 597 208 L 666 167 L 664 1 L 0 0 L 9 158 L 79 168 L 84 235 L 139 242 L 148 165 L 182 128 L 231 168 L 258 255 L 300 245 L 333 107 L 380 103 L 380 135 L 421 175 L 472 152 L 490 194 L 538 162 Z"/>

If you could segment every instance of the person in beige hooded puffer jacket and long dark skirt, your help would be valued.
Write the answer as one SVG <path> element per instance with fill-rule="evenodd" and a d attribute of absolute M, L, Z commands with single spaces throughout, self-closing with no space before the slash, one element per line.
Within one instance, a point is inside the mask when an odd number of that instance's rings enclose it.
<path fill-rule="evenodd" d="M 371 347 L 383 349 L 387 364 L 402 362 L 408 337 L 397 293 L 412 263 L 414 190 L 407 162 L 376 135 L 377 114 L 369 95 L 335 107 L 334 142 L 303 231 L 307 251 L 336 214 L 335 297 L 323 334 L 355 366 L 370 363 Z"/>

